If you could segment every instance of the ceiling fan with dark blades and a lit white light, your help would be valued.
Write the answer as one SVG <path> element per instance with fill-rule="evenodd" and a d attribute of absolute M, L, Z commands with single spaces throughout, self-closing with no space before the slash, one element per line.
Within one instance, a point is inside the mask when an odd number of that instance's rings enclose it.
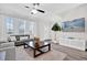
<path fill-rule="evenodd" d="M 41 9 L 37 9 L 40 6 L 40 3 L 33 3 L 33 8 L 31 10 L 31 14 L 34 14 L 34 13 L 37 13 L 37 12 L 41 12 L 41 13 L 45 13 L 44 10 L 41 10 Z M 25 6 L 26 9 L 30 9 L 31 7 L 29 6 Z"/>

